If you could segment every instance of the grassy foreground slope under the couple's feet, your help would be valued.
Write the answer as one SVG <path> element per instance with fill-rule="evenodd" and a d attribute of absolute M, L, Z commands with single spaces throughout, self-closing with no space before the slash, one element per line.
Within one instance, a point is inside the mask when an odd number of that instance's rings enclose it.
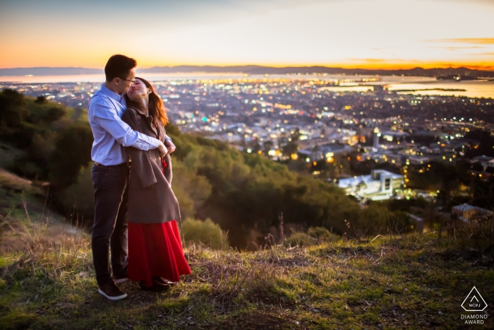
<path fill-rule="evenodd" d="M 119 302 L 96 292 L 87 240 L 34 240 L 30 253 L 0 259 L 0 329 L 458 329 L 473 285 L 494 312 L 492 250 L 453 247 L 444 238 L 379 237 L 258 254 L 191 249 L 191 276 L 167 293 L 125 283 L 129 297 Z M 487 319 L 485 329 L 492 326 Z"/>

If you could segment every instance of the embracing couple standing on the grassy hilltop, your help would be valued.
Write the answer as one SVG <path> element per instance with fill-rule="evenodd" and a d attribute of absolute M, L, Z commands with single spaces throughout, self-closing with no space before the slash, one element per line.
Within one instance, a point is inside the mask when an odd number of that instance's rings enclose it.
<path fill-rule="evenodd" d="M 135 77 L 136 65 L 123 55 L 110 57 L 106 81 L 88 107 L 95 138 L 92 258 L 98 292 L 109 300 L 127 297 L 117 283 L 162 291 L 191 273 L 176 225 L 167 112 L 155 88 Z"/>

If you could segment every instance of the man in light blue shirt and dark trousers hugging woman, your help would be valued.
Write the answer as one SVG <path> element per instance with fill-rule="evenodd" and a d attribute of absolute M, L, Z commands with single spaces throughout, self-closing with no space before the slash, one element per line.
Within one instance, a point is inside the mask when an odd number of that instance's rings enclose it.
<path fill-rule="evenodd" d="M 158 148 L 161 155 L 175 150 L 150 136 L 133 131 L 121 120 L 126 110 L 126 93 L 135 78 L 135 59 L 123 55 L 109 58 L 104 67 L 106 81 L 92 96 L 88 107 L 89 124 L 95 138 L 92 143 L 91 178 L 95 187 L 95 219 L 92 227 L 92 258 L 98 292 L 109 300 L 120 300 L 126 293 L 116 285 L 127 278 L 127 190 L 128 155 L 122 146 L 143 151 Z M 112 271 L 109 265 L 112 252 Z"/>

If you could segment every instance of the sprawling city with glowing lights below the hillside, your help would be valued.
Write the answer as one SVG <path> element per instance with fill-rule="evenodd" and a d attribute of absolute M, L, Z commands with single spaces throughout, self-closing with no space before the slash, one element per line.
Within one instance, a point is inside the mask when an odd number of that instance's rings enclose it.
<path fill-rule="evenodd" d="M 494 158 L 467 156 L 483 143 L 469 139 L 469 132 L 494 132 L 494 100 L 411 95 L 378 84 L 362 92 L 328 89 L 349 81 L 344 76 L 336 82 L 245 78 L 157 81 L 154 86 L 181 131 L 288 163 L 360 201 L 434 199 L 439 187 L 409 184 L 411 172 L 426 172 L 431 162 L 466 160 L 476 168 L 471 175 L 484 180 L 493 175 Z M 75 112 L 80 115 L 100 83 L 4 83 L 0 88 L 82 109 Z M 375 167 L 392 174 L 391 186 L 382 182 L 361 189 L 369 180 L 379 181 L 370 178 Z"/>

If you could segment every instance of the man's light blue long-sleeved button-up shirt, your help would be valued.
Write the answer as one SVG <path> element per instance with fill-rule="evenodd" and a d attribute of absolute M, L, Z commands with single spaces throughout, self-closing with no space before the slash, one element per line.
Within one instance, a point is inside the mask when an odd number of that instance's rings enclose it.
<path fill-rule="evenodd" d="M 105 166 L 119 165 L 128 161 L 122 147 L 132 146 L 140 150 L 154 149 L 159 141 L 151 136 L 133 131 L 121 117 L 126 110 L 123 95 L 109 90 L 104 84 L 92 96 L 88 117 L 95 141 L 92 143 L 91 158 Z"/>

